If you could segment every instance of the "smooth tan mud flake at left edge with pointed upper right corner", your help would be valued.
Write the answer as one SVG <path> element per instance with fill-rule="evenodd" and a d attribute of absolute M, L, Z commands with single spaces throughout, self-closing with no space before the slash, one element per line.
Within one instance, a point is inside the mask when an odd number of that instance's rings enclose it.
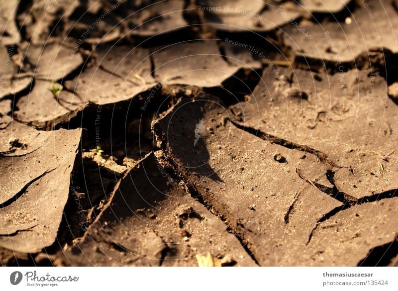
<path fill-rule="evenodd" d="M 28 152 L 14 154 L 12 159 L 0 158 L 0 233 L 9 234 L 0 237 L 0 246 L 36 253 L 56 239 L 69 196 L 81 130 L 39 132 L 12 121 L 11 126 L 0 131 L 0 139 L 9 135 L 13 149 L 23 152 L 26 145 Z M 54 140 L 58 147 L 54 147 Z M 14 217 L 17 213 L 23 215 Z M 15 219 L 9 219 L 12 217 Z"/>

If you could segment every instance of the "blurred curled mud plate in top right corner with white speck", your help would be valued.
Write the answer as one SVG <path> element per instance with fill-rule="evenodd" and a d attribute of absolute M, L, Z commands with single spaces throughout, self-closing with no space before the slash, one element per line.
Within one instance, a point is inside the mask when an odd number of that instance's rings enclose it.
<path fill-rule="evenodd" d="M 334 3 L 330 5 L 336 8 L 342 3 L 331 2 Z M 328 5 L 321 4 L 319 7 L 326 9 Z M 341 25 L 336 25 L 334 21 L 322 23 L 322 27 L 311 22 L 303 23 L 300 28 L 304 32 L 310 31 L 311 41 L 297 33 L 296 27 L 286 29 L 286 35 L 289 37 L 285 37 L 285 41 L 293 48 L 299 67 L 302 65 L 308 68 L 309 64 L 312 70 L 323 70 L 323 65 L 326 64 L 328 70 L 337 73 L 353 68 L 368 69 L 372 66 L 385 71 L 386 55 L 398 52 L 397 44 L 389 37 L 398 31 L 398 19 L 395 16 L 391 17 L 396 14 L 389 0 L 383 0 L 382 3 L 365 2 L 352 14 L 349 13 L 350 17 L 342 19 L 345 23 Z M 318 15 L 313 17 L 317 18 Z M 364 33 L 368 36 L 366 39 L 361 36 Z"/>

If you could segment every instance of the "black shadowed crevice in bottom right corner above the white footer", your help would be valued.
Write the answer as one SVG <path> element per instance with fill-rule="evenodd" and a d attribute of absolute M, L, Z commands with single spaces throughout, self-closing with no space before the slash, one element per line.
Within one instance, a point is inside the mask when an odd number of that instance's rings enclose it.
<path fill-rule="evenodd" d="M 358 267 L 389 266 L 398 255 L 398 235 L 392 242 L 374 247 L 368 255 L 358 263 Z"/>

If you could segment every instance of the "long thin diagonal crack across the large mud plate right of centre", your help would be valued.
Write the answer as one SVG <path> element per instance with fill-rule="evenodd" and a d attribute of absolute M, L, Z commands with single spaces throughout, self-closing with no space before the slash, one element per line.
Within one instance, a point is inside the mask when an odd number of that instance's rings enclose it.
<path fill-rule="evenodd" d="M 326 165 L 327 168 L 330 169 L 330 170 L 333 169 L 334 167 L 335 168 L 343 168 L 343 167 L 337 165 L 336 163 L 334 163 L 333 161 L 331 161 L 329 159 L 329 157 L 325 153 L 322 153 L 321 151 L 315 150 L 315 149 L 310 148 L 310 147 L 305 146 L 305 145 L 300 145 L 300 144 L 288 141 L 286 139 L 282 139 L 282 138 L 276 137 L 276 136 L 274 136 L 272 134 L 268 134 L 268 133 L 262 132 L 261 130 L 254 129 L 252 127 L 248 127 L 248 126 L 245 126 L 245 125 L 240 125 L 240 124 L 238 124 L 238 123 L 236 123 L 236 122 L 234 122 L 232 120 L 230 120 L 230 121 L 237 128 L 242 129 L 242 130 L 244 130 L 244 131 L 246 131 L 248 133 L 251 133 L 251 134 L 253 134 L 253 135 L 255 135 L 255 136 L 257 136 L 257 137 L 259 137 L 259 138 L 261 138 L 261 139 L 263 139 L 265 141 L 270 142 L 271 144 L 276 144 L 276 145 L 280 145 L 280 146 L 283 146 L 283 147 L 291 149 L 291 150 L 298 150 L 298 151 L 301 151 L 301 152 L 305 152 L 305 153 L 309 153 L 309 154 L 315 155 L 318 158 L 318 160 L 322 164 Z"/>

